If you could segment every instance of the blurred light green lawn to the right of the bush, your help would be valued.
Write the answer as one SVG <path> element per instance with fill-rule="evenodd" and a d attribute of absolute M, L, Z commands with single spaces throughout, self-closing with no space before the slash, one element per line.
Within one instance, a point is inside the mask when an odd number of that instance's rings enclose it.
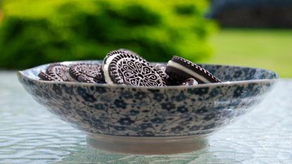
<path fill-rule="evenodd" d="M 211 39 L 214 56 L 203 63 L 274 70 L 292 77 L 292 30 L 221 30 Z"/>

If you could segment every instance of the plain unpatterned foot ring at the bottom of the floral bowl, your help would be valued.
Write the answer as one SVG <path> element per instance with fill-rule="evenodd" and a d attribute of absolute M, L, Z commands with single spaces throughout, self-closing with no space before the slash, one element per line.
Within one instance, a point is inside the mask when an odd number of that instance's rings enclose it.
<path fill-rule="evenodd" d="M 87 136 L 87 144 L 105 151 L 132 154 L 172 154 L 197 151 L 208 146 L 207 137 L 120 137 Z"/>

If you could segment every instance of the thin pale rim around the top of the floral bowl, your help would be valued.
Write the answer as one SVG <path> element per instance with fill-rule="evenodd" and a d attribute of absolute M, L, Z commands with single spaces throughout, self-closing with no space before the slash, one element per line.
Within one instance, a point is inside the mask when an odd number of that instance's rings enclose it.
<path fill-rule="evenodd" d="M 58 63 L 63 64 L 70 64 L 70 63 L 77 63 L 77 62 L 101 62 L 101 60 L 87 60 L 87 61 L 63 61 Z M 151 62 L 151 63 L 164 63 L 165 62 Z M 69 84 L 69 85 L 75 85 L 75 86 L 88 86 L 88 87 L 115 87 L 115 88 L 132 88 L 132 89 L 195 89 L 195 88 L 203 88 L 203 87 L 226 87 L 226 86 L 233 86 L 237 84 L 250 84 L 250 83 L 258 83 L 258 84 L 267 84 L 272 82 L 277 82 L 279 80 L 279 75 L 277 72 L 274 72 L 272 70 L 264 69 L 264 68 L 253 68 L 253 67 L 246 67 L 246 66 L 238 66 L 238 65 L 217 65 L 217 64 L 206 64 L 206 63 L 198 63 L 202 65 L 214 65 L 214 66 L 229 66 L 229 67 L 238 67 L 238 68 L 252 68 L 252 69 L 259 69 L 259 70 L 265 70 L 267 72 L 274 73 L 275 77 L 272 79 L 258 79 L 258 80 L 239 80 L 239 81 L 232 81 L 232 82 L 218 82 L 218 83 L 209 83 L 209 84 L 198 84 L 198 85 L 192 85 L 192 86 L 182 86 L 182 85 L 176 85 L 176 86 L 165 86 L 165 87 L 141 87 L 141 86 L 132 86 L 132 85 L 125 85 L 125 84 L 100 84 L 100 83 L 87 83 L 87 82 L 53 82 L 53 81 L 45 81 L 45 80 L 35 80 L 30 77 L 27 77 L 24 73 L 24 71 L 34 70 L 36 68 L 40 68 L 45 65 L 49 65 L 51 63 L 46 63 L 43 65 L 38 65 L 33 68 L 28 68 L 25 70 L 19 70 L 17 72 L 18 77 L 25 78 L 27 80 L 30 80 L 32 82 L 37 83 L 43 83 L 43 84 Z"/>

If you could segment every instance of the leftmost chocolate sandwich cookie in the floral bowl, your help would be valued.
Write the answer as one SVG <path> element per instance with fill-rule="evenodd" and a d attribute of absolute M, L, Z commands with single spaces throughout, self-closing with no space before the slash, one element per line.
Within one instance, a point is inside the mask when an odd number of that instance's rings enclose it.
<path fill-rule="evenodd" d="M 67 65 L 62 65 L 60 63 L 53 63 L 46 68 L 46 72 L 39 72 L 39 77 L 41 80 L 47 81 L 57 81 L 57 82 L 67 82 L 69 67 Z"/>

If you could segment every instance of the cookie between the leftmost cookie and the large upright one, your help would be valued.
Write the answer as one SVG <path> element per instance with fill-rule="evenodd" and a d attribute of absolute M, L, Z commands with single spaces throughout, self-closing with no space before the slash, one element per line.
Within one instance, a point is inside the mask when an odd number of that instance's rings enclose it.
<path fill-rule="evenodd" d="M 77 63 L 70 65 L 68 79 L 77 82 L 104 83 L 101 65 L 93 63 Z"/>

